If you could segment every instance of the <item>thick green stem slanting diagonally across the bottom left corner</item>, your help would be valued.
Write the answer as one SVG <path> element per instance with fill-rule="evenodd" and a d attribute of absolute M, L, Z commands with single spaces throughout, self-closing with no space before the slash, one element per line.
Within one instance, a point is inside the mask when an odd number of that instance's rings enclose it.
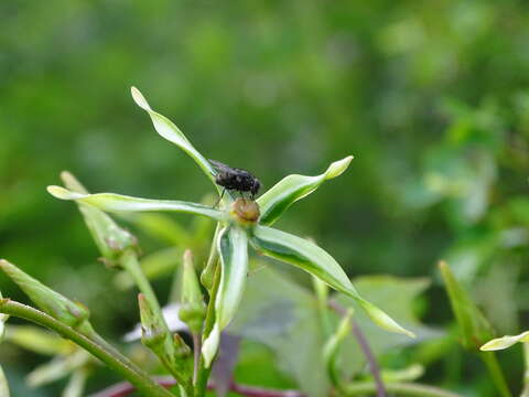
<path fill-rule="evenodd" d="M 137 372 L 133 368 L 125 365 L 123 362 L 115 357 L 110 352 L 106 351 L 95 341 L 55 320 L 51 315 L 41 312 L 40 310 L 22 304 L 20 302 L 11 301 L 9 299 L 2 299 L 0 300 L 0 312 L 31 321 L 35 324 L 55 331 L 63 337 L 71 340 L 75 344 L 79 345 L 80 347 L 93 354 L 95 357 L 99 358 L 109 368 L 116 371 L 119 375 L 129 380 L 144 396 L 173 396 L 170 391 L 156 385 L 145 373 Z"/>

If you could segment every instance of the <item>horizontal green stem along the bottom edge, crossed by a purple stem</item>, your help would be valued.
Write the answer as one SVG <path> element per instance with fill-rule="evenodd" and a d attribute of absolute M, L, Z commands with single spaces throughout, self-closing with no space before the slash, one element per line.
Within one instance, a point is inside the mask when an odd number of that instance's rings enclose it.
<path fill-rule="evenodd" d="M 461 397 L 455 393 L 446 391 L 438 387 L 414 383 L 387 383 L 385 384 L 385 387 L 388 393 L 395 393 L 402 396 Z M 375 383 L 353 384 L 344 387 L 344 395 L 347 397 L 375 393 L 377 393 L 377 385 Z"/>

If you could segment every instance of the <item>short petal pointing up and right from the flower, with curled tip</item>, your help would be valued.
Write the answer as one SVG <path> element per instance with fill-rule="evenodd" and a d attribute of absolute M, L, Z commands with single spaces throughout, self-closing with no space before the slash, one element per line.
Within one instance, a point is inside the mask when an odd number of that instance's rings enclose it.
<path fill-rule="evenodd" d="M 317 176 L 289 175 L 257 198 L 262 225 L 273 224 L 293 203 L 314 192 L 324 181 L 341 175 L 349 165 L 353 155 L 333 162 Z"/>

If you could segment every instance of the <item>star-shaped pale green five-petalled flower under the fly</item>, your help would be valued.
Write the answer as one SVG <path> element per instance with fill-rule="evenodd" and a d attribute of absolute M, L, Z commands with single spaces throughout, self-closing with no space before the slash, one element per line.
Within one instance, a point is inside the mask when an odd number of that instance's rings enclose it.
<path fill-rule="evenodd" d="M 206 158 L 171 120 L 152 110 L 137 88 L 132 87 L 131 92 L 134 101 L 151 117 L 158 133 L 185 151 L 219 191 L 215 183 L 217 172 Z M 341 175 L 352 160 L 349 155 L 336 161 L 316 176 L 289 175 L 257 198 L 257 205 L 248 200 L 235 200 L 228 192 L 218 210 L 184 201 L 137 198 L 114 193 L 85 194 L 60 186 L 48 186 L 47 190 L 57 198 L 75 200 L 107 212 L 173 211 L 206 216 L 218 223 L 214 245 L 222 272 L 215 300 L 216 321 L 203 346 L 208 366 L 216 354 L 220 331 L 235 315 L 242 296 L 248 273 L 248 243 L 258 253 L 300 267 L 335 290 L 354 298 L 379 326 L 413 336 L 360 297 L 342 267 L 325 250 L 306 239 L 270 227 L 298 200 L 314 192 L 324 181 Z"/>

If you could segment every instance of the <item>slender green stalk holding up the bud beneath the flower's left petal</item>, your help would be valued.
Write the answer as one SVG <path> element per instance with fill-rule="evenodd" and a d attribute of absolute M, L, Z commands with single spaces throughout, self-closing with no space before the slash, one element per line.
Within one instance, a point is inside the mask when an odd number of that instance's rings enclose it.
<path fill-rule="evenodd" d="M 159 354 L 162 364 L 164 367 L 174 376 L 174 378 L 179 382 L 180 385 L 186 390 L 187 395 L 193 395 L 193 385 L 191 382 L 191 377 L 186 374 L 186 371 L 183 366 L 175 365 L 174 357 L 175 357 L 175 350 L 174 343 L 171 337 L 171 332 L 169 331 L 168 323 L 162 314 L 162 309 L 160 308 L 160 303 L 158 302 L 158 298 L 154 294 L 154 291 L 151 287 L 151 283 L 147 279 L 143 270 L 141 270 L 140 264 L 138 262 L 138 256 L 133 250 L 127 250 L 123 253 L 120 261 L 121 266 L 129 272 L 129 275 L 133 278 L 138 289 L 143 293 L 145 297 L 149 307 L 153 311 L 153 314 L 160 319 L 160 322 L 163 324 L 163 328 L 166 331 L 166 341 L 164 343 L 164 352 Z"/>

